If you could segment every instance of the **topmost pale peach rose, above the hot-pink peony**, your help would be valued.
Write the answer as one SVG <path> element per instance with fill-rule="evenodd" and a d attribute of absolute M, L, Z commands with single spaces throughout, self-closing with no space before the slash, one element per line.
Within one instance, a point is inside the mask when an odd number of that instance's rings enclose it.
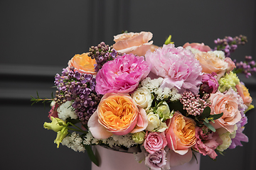
<path fill-rule="evenodd" d="M 134 55 L 145 55 L 147 50 L 151 50 L 151 44 L 153 41 L 150 41 L 153 37 L 153 34 L 150 32 L 141 33 L 122 33 L 114 36 L 114 50 L 122 53 L 132 53 Z"/>

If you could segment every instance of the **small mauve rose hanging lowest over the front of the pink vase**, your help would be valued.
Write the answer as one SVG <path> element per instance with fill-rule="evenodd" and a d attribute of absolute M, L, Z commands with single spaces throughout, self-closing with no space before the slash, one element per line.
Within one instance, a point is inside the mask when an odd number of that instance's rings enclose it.
<path fill-rule="evenodd" d="M 147 154 L 145 164 L 151 170 L 161 170 L 166 165 L 166 152 L 159 150 L 158 152 L 154 152 L 154 154 Z"/>

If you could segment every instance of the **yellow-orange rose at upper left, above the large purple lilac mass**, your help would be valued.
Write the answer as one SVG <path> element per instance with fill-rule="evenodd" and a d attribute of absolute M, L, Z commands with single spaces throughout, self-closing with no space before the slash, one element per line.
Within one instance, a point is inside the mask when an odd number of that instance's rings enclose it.
<path fill-rule="evenodd" d="M 87 52 L 82 55 L 75 55 L 71 60 L 69 60 L 68 68 L 75 67 L 74 71 L 78 71 L 80 73 L 97 74 L 97 72 L 95 72 L 94 64 L 96 64 L 95 59 L 92 60 L 91 57 L 88 57 Z"/>

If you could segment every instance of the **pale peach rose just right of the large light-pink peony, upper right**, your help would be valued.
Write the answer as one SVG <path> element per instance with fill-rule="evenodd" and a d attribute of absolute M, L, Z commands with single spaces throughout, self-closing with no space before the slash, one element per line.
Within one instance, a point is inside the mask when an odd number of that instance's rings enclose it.
<path fill-rule="evenodd" d="M 216 57 L 213 52 L 198 52 L 195 57 L 201 64 L 202 72 L 206 74 L 215 72 L 218 74 L 217 79 L 223 77 L 225 70 L 228 69 L 228 63 Z"/>

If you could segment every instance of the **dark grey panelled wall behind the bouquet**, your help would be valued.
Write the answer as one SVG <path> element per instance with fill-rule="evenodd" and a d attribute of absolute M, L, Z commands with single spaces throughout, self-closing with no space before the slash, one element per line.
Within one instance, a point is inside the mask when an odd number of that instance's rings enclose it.
<path fill-rule="evenodd" d="M 113 35 L 122 30 L 144 30 L 159 46 L 169 35 L 176 46 L 204 42 L 214 47 L 217 38 L 242 34 L 248 43 L 232 57 L 256 58 L 255 9 L 255 0 L 0 1 L 0 169 L 90 169 L 86 152 L 57 149 L 55 132 L 43 129 L 49 106 L 30 102 L 36 91 L 50 98 L 54 75 L 75 54 L 101 41 L 112 45 Z M 241 79 L 255 98 L 255 77 Z M 216 162 L 201 157 L 201 169 L 255 169 L 255 114 L 247 113 L 250 142 L 219 154 Z"/>

